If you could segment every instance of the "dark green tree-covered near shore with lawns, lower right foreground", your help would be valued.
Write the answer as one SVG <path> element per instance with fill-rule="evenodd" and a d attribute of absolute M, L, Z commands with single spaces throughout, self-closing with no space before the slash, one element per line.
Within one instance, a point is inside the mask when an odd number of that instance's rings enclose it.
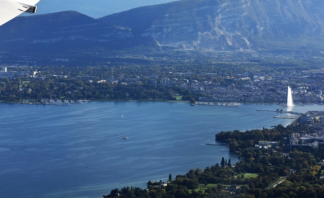
<path fill-rule="evenodd" d="M 324 148 L 291 149 L 292 134 L 317 133 L 311 125 L 295 124 L 246 132 L 220 132 L 216 140 L 242 158 L 169 175 L 168 182 L 147 183 L 147 189 L 124 187 L 104 198 L 323 198 Z M 274 146 L 270 147 L 270 143 Z M 268 145 L 268 147 L 264 147 Z M 211 162 L 213 163 L 213 162 Z"/>

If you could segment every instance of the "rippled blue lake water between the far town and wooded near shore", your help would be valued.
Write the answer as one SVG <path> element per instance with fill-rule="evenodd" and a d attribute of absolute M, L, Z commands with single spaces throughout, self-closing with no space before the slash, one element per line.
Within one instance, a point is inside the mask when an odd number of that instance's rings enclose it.
<path fill-rule="evenodd" d="M 124 186 L 144 188 L 235 154 L 215 144 L 220 131 L 269 128 L 276 104 L 239 107 L 173 102 L 0 103 L 3 198 L 101 198 Z M 283 108 L 286 110 L 286 107 Z M 324 110 L 324 105 L 293 107 Z M 127 136 L 127 140 L 122 138 Z"/>

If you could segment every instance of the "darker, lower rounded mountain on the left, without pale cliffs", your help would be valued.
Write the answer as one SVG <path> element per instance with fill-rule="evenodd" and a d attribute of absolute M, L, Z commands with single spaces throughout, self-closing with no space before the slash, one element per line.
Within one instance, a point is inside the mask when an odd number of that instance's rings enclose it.
<path fill-rule="evenodd" d="M 129 41 L 128 41 L 129 40 Z M 133 43 L 127 28 L 107 24 L 76 11 L 17 17 L 0 27 L 0 50 L 59 52 Z"/>

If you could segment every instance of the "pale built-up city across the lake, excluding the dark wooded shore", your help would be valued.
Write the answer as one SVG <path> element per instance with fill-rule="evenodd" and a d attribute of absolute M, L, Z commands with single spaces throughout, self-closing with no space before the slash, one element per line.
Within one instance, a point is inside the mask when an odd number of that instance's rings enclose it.
<path fill-rule="evenodd" d="M 28 67 L 28 65 L 26 66 Z M 25 78 L 40 78 L 44 76 L 36 75 L 35 72 L 9 72 L 6 67 L 1 67 L 0 77 L 14 79 L 19 76 Z M 171 75 L 171 74 L 170 74 Z M 169 76 L 170 76 L 169 75 Z M 238 74 L 223 73 L 202 73 L 196 74 L 175 73 L 173 77 L 169 76 L 145 76 L 145 77 L 107 77 L 100 79 L 96 76 L 62 76 L 53 75 L 57 78 L 75 78 L 78 80 L 89 80 L 98 83 L 124 83 L 124 84 L 141 84 L 143 81 L 151 85 L 161 86 L 180 86 L 185 89 L 191 89 L 195 92 L 204 93 L 207 97 L 200 97 L 199 101 L 209 102 L 279 102 L 284 103 L 287 100 L 287 87 L 292 87 L 292 96 L 294 102 L 301 103 L 322 103 L 324 102 L 324 85 L 321 84 L 314 76 L 322 74 L 311 73 L 260 73 L 245 72 Z M 176 78 L 176 76 L 178 78 Z M 179 77 L 181 76 L 181 77 Z M 206 79 L 221 77 L 223 79 L 231 79 L 232 84 L 227 86 L 213 83 L 210 81 L 199 82 L 194 80 L 194 76 L 205 76 Z M 191 80 L 189 80 L 191 79 Z"/>

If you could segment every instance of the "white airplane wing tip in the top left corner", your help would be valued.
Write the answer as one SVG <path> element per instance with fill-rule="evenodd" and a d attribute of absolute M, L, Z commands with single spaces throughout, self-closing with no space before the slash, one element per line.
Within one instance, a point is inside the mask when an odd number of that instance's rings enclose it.
<path fill-rule="evenodd" d="M 36 12 L 39 0 L 0 0 L 0 26 L 23 12 Z"/>

